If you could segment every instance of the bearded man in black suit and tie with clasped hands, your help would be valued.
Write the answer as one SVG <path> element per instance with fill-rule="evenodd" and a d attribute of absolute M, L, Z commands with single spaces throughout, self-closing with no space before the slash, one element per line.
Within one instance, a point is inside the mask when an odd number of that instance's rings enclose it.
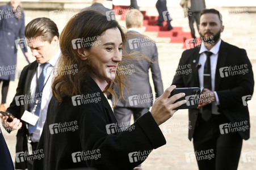
<path fill-rule="evenodd" d="M 253 95 L 253 70 L 244 49 L 220 39 L 223 31 L 220 12 L 203 10 L 202 44 L 183 52 L 173 79 L 177 87 L 204 87 L 199 107 L 188 109 L 199 169 L 237 169 L 242 139 L 250 137 L 246 101 Z"/>

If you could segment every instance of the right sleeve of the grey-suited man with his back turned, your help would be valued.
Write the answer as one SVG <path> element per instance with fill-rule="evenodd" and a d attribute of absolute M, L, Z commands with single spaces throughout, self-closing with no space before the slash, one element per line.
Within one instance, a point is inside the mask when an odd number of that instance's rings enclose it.
<path fill-rule="evenodd" d="M 156 44 L 154 45 L 154 53 L 152 59 L 154 63 L 151 63 L 151 73 L 154 83 L 154 90 L 156 92 L 156 97 L 159 97 L 163 94 L 163 82 L 161 77 L 161 70 L 158 64 L 158 52 Z"/>

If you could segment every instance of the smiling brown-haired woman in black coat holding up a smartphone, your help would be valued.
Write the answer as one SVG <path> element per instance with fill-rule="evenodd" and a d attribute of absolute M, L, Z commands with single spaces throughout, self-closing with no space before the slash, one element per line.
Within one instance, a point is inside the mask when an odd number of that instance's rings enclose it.
<path fill-rule="evenodd" d="M 81 42 L 85 37 L 90 37 L 90 41 Z M 170 97 L 175 86 L 168 87 L 151 112 L 125 131 L 120 130 L 104 96 L 105 92 L 111 92 L 116 97 L 111 88 L 114 80 L 118 81 L 122 95 L 125 75 L 118 74 L 117 66 L 122 60 L 124 44 L 120 25 L 99 12 L 82 11 L 66 24 L 60 36 L 59 67 L 74 64 L 79 71 L 54 78 L 53 98 L 37 147 L 44 151 L 44 158 L 36 159 L 33 169 L 133 169 L 154 148 L 165 145 L 158 126 L 173 116 L 176 112 L 173 108 L 186 103 L 181 100 L 174 104 L 184 96 L 181 93 Z M 139 152 L 143 152 L 144 159 L 137 159 Z"/>

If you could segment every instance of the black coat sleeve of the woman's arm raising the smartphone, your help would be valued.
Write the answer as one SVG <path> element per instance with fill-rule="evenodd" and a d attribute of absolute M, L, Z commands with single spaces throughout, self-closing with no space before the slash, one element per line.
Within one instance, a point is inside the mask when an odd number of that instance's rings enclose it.
<path fill-rule="evenodd" d="M 132 169 L 141 164 L 154 148 L 166 143 L 150 112 L 118 135 L 107 133 L 110 129 L 99 109 L 85 113 L 81 125 L 83 150 L 99 149 L 101 159 L 86 162 L 89 167 L 97 169 Z"/>

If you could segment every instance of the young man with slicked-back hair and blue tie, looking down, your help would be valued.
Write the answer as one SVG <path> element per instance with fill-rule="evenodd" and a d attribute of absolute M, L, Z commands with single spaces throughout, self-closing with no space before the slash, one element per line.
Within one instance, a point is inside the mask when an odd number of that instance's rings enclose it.
<path fill-rule="evenodd" d="M 4 128 L 9 133 L 18 130 L 15 168 L 31 170 L 34 158 L 29 156 L 36 152 L 43 131 L 48 104 L 52 97 L 53 69 L 60 56 L 60 47 L 58 28 L 51 19 L 33 19 L 27 24 L 24 34 L 36 61 L 22 70 L 16 94 L 6 111 L 16 118 L 7 122 L 8 116 L 0 115 Z M 23 115 L 28 118 L 21 120 Z M 29 124 L 34 116 L 38 117 L 35 125 Z"/>

